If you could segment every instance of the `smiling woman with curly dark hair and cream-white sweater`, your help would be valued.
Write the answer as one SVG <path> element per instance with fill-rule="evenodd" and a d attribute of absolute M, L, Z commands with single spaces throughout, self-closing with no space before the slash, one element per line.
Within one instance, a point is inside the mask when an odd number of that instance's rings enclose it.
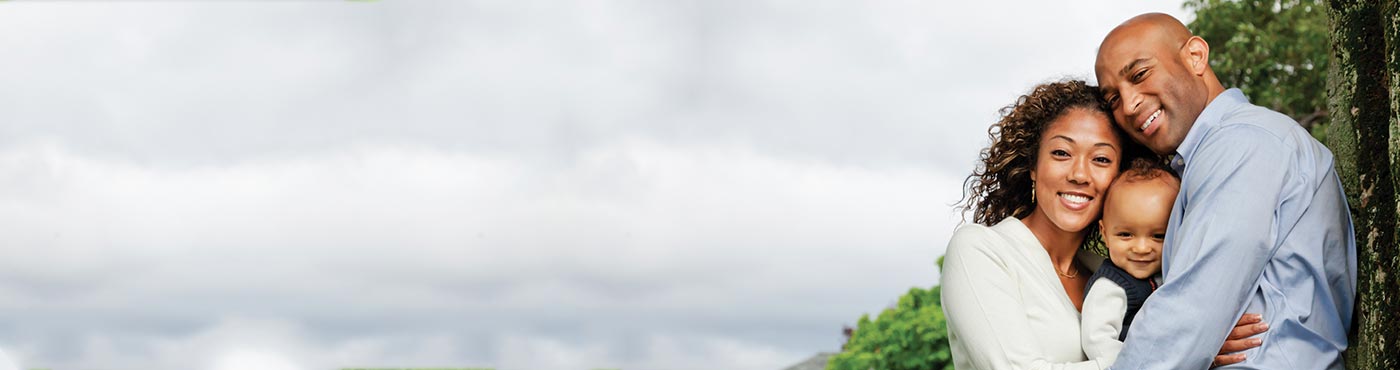
<path fill-rule="evenodd" d="M 1081 249 L 1109 182 L 1151 153 L 1109 121 L 1098 88 L 1084 81 L 1037 85 L 988 135 L 962 205 L 973 221 L 953 234 L 942 270 L 942 304 L 956 369 L 1106 369 L 1086 360 L 1079 308 L 1103 261 Z M 1246 315 L 1250 317 L 1250 315 Z M 1225 348 L 1254 348 L 1242 318 Z M 1170 353 L 1163 353 L 1170 356 Z M 1219 356 L 1217 363 L 1242 360 Z"/>

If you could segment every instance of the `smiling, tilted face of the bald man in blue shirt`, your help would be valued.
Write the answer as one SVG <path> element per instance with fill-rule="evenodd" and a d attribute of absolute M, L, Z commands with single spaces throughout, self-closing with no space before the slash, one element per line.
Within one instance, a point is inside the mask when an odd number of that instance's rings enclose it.
<path fill-rule="evenodd" d="M 1119 128 L 1163 156 L 1176 151 L 1205 109 L 1204 83 L 1182 46 L 1147 27 L 1120 28 L 1099 46 L 1093 67 Z"/>

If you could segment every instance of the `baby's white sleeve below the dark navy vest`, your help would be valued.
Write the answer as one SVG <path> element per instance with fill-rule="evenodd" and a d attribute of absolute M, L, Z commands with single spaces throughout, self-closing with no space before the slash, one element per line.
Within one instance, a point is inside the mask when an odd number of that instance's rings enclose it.
<path fill-rule="evenodd" d="M 1123 349 L 1119 334 L 1123 332 L 1127 311 L 1128 293 L 1113 280 L 1099 279 L 1089 287 L 1079 320 L 1085 356 L 1099 363 L 1113 363 L 1119 357 L 1119 350 Z"/>

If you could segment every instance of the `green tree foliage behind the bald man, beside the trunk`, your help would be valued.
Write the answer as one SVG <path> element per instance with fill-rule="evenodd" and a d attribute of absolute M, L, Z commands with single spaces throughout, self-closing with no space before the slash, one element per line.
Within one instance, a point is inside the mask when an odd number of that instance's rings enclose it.
<path fill-rule="evenodd" d="M 1211 69 L 1250 102 L 1305 128 L 1327 112 L 1327 10 L 1320 0 L 1187 0 Z M 1316 133 L 1317 130 L 1315 130 Z"/>

